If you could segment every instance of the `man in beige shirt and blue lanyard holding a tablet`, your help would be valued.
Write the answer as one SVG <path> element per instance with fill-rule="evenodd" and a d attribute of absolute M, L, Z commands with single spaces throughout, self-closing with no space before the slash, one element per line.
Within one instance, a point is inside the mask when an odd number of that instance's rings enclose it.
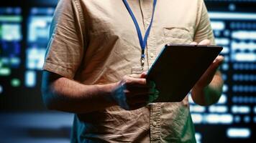
<path fill-rule="evenodd" d="M 137 35 L 150 26 L 142 52 Z M 131 69 L 150 66 L 165 44 L 214 44 L 203 0 L 60 0 L 50 31 L 43 99 L 76 114 L 71 142 L 196 142 L 188 97 L 149 106 L 155 86 Z M 222 61 L 193 87 L 197 104 L 218 101 Z"/>

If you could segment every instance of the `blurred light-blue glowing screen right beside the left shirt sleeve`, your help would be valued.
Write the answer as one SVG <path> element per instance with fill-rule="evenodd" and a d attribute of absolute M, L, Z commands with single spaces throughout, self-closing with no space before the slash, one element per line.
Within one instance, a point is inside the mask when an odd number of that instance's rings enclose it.
<path fill-rule="evenodd" d="M 42 69 L 45 59 L 45 49 L 49 39 L 53 8 L 37 8 L 30 10 L 27 28 L 25 86 L 35 87 L 37 71 Z"/>

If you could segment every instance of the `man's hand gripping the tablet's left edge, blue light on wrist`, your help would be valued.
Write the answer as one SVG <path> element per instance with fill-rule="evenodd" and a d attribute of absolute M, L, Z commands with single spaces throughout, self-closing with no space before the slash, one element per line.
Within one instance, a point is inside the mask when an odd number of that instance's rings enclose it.
<path fill-rule="evenodd" d="M 145 72 L 124 76 L 112 92 L 114 101 L 127 110 L 145 107 L 150 101 L 150 95 L 157 94 L 155 83 L 147 81 L 146 77 Z"/>

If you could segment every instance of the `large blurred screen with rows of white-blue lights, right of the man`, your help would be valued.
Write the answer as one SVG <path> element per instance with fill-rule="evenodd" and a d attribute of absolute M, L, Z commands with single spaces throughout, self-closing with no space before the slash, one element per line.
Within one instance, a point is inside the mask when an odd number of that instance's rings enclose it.
<path fill-rule="evenodd" d="M 209 16 L 216 44 L 224 46 L 221 54 L 225 61 L 220 68 L 224 88 L 219 102 L 210 107 L 198 106 L 190 99 L 196 139 L 252 142 L 256 123 L 256 11 L 209 11 Z"/>

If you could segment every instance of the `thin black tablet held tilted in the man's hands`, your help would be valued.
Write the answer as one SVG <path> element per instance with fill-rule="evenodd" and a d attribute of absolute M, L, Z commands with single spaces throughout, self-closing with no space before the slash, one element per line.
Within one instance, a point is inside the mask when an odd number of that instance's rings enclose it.
<path fill-rule="evenodd" d="M 147 72 L 159 97 L 154 102 L 181 102 L 223 47 L 165 45 Z"/>

